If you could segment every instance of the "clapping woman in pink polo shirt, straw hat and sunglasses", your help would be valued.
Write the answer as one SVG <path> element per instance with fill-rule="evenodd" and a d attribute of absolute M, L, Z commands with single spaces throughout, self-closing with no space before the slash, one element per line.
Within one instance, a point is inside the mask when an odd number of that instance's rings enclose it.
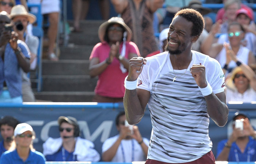
<path fill-rule="evenodd" d="M 130 42 L 132 31 L 121 17 L 112 17 L 101 24 L 98 36 L 101 43 L 94 46 L 89 66 L 90 76 L 99 76 L 93 102 L 123 102 L 129 59 L 140 56 Z"/>

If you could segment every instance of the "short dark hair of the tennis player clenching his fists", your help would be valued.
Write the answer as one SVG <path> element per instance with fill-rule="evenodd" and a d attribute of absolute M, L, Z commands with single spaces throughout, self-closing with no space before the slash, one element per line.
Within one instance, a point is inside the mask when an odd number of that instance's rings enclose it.
<path fill-rule="evenodd" d="M 203 29 L 204 29 L 204 18 L 200 12 L 196 11 L 195 9 L 192 8 L 185 8 L 180 11 L 178 11 L 173 19 L 177 16 L 182 16 L 185 19 L 187 19 L 189 22 L 193 23 L 192 29 L 191 29 L 191 36 L 196 36 L 198 37 L 202 34 Z"/>

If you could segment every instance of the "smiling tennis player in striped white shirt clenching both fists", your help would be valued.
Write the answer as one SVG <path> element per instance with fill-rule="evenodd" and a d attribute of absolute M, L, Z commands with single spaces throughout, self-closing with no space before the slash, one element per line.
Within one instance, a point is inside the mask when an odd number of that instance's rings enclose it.
<path fill-rule="evenodd" d="M 182 9 L 170 24 L 166 52 L 130 60 L 125 114 L 129 124 L 137 124 L 148 104 L 153 130 L 146 164 L 215 163 L 209 118 L 224 126 L 228 108 L 221 66 L 191 50 L 203 27 L 199 12 Z"/>

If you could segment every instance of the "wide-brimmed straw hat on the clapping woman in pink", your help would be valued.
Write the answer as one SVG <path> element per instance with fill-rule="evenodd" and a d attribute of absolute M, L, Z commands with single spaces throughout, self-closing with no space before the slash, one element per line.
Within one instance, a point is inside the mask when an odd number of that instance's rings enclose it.
<path fill-rule="evenodd" d="M 98 36 L 101 42 L 105 41 L 104 36 L 106 33 L 106 28 L 109 26 L 109 24 L 119 24 L 120 26 L 123 26 L 125 31 L 127 31 L 127 42 L 131 40 L 132 30 L 124 23 L 124 20 L 121 17 L 112 17 L 108 21 L 102 23 L 101 26 L 99 26 Z"/>

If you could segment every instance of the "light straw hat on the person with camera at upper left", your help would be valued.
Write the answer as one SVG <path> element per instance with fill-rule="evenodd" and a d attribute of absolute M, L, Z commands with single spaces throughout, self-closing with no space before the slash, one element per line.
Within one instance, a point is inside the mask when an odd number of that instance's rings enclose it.
<path fill-rule="evenodd" d="M 35 20 L 36 20 L 36 17 L 33 14 L 28 13 L 23 5 L 16 5 L 16 6 L 14 6 L 12 8 L 12 10 L 11 10 L 11 14 L 10 15 L 11 15 L 12 19 L 15 16 L 25 16 L 25 17 L 27 17 L 27 19 L 29 20 L 30 23 L 34 23 Z"/>

